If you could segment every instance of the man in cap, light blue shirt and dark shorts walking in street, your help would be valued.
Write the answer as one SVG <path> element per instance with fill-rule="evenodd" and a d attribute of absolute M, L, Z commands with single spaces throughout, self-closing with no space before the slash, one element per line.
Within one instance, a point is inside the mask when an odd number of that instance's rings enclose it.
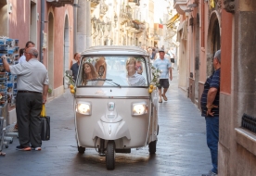
<path fill-rule="evenodd" d="M 166 92 L 169 88 L 169 78 L 172 81 L 173 80 L 173 70 L 171 66 L 171 62 L 169 59 L 164 58 L 164 50 L 159 51 L 160 58 L 157 58 L 155 62 L 153 63 L 153 66 L 156 69 L 160 69 L 160 82 L 159 82 L 159 103 L 162 103 L 161 97 L 164 99 L 164 101 L 167 101 Z M 161 94 L 161 88 L 163 88 L 163 93 Z"/>

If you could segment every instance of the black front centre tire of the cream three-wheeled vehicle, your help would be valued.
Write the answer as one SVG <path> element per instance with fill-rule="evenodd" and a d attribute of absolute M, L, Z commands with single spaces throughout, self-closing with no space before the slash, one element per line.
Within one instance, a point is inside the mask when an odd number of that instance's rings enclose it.
<path fill-rule="evenodd" d="M 107 153 L 106 153 L 106 167 L 107 170 L 115 169 L 115 142 L 109 141 L 107 145 Z"/>

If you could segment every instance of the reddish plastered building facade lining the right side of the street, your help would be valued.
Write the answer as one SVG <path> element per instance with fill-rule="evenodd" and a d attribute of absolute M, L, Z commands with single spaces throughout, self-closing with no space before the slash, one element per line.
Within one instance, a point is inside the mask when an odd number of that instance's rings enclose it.
<path fill-rule="evenodd" d="M 179 87 L 198 107 L 222 50 L 218 175 L 256 175 L 256 2 L 175 0 L 174 7 L 181 15 Z"/>

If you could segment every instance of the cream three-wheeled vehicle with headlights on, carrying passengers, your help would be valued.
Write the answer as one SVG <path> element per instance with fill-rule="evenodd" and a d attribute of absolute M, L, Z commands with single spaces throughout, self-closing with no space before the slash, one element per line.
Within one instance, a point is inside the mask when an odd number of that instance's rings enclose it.
<path fill-rule="evenodd" d="M 148 54 L 136 46 L 95 46 L 82 53 L 74 94 L 79 153 L 96 148 L 115 168 L 115 153 L 145 145 L 155 154 L 158 94 Z"/>

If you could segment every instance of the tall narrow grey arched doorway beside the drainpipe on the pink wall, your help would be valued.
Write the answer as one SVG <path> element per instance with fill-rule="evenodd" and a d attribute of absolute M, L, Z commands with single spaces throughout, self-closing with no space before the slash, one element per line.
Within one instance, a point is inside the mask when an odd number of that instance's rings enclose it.
<path fill-rule="evenodd" d="M 54 17 L 49 13 L 48 18 L 48 75 L 49 75 L 49 88 L 54 90 Z M 53 91 L 48 94 L 53 96 Z"/>

